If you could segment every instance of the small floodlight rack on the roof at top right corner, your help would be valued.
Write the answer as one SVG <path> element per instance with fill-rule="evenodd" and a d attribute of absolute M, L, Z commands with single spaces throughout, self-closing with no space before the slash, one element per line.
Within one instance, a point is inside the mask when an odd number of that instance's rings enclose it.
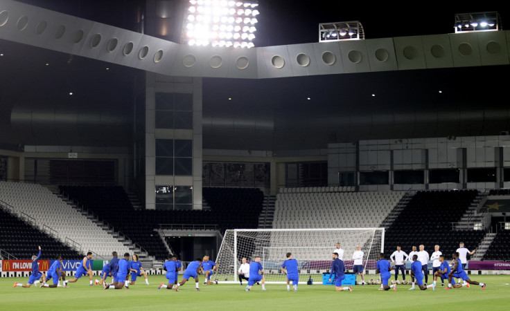
<path fill-rule="evenodd" d="M 464 26 L 464 27 L 463 27 Z M 498 12 L 459 13 L 455 15 L 455 33 L 502 30 Z"/>

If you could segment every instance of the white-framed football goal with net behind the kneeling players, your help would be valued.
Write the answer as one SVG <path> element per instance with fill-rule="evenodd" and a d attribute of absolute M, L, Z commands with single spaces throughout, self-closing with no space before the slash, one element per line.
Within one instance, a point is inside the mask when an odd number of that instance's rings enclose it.
<path fill-rule="evenodd" d="M 375 269 L 380 252 L 384 252 L 384 235 L 384 228 L 231 229 L 225 232 L 216 258 L 216 277 L 220 281 L 238 282 L 242 259 L 250 262 L 260 256 L 265 281 L 286 282 L 281 265 L 290 252 L 299 264 L 299 283 L 306 283 L 308 276 L 319 282 L 322 273 L 329 272 L 336 243 L 344 249 L 348 271 L 352 270 L 357 245 L 364 252 L 364 269 Z"/>

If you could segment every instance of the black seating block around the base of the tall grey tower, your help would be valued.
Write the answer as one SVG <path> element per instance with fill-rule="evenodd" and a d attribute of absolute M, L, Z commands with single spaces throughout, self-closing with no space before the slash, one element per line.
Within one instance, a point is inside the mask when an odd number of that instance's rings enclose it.
<path fill-rule="evenodd" d="M 166 245 L 159 237 L 159 224 L 218 225 L 222 232 L 234 228 L 256 228 L 263 193 L 258 189 L 204 188 L 211 210 L 134 210 L 122 187 L 71 187 L 60 190 L 120 230 L 151 256 L 164 260 Z"/>

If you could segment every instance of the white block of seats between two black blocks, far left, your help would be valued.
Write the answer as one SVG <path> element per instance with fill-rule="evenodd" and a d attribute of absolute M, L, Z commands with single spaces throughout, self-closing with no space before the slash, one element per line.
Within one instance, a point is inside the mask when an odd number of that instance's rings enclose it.
<path fill-rule="evenodd" d="M 79 252 L 90 250 L 107 258 L 112 254 L 112 249 L 117 252 L 129 250 L 41 185 L 0 182 L 0 196 L 15 211 L 33 218 L 39 229 L 51 228 L 60 241 L 67 241 Z"/>

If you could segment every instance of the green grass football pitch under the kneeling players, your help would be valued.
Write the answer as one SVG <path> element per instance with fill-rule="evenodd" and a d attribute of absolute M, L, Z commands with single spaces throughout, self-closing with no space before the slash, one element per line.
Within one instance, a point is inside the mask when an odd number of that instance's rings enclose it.
<path fill-rule="evenodd" d="M 304 277 L 304 276 L 301 276 Z M 306 278 L 308 279 L 308 278 Z M 376 279 L 376 276 L 368 276 Z M 0 279 L 1 310 L 509 310 L 510 276 L 472 276 L 473 281 L 486 283 L 486 289 L 471 288 L 444 290 L 441 283 L 435 291 L 408 290 L 410 285 L 398 285 L 397 291 L 379 291 L 379 285 L 353 286 L 353 292 L 335 292 L 335 287 L 299 285 L 298 292 L 288 292 L 285 285 L 254 285 L 245 292 L 239 284 L 202 285 L 195 291 L 195 283 L 188 282 L 179 292 L 158 290 L 163 275 L 149 276 L 150 285 L 143 279 L 129 290 L 103 290 L 89 286 L 88 279 L 69 284 L 69 288 L 12 288 L 15 282 L 26 283 L 28 278 Z M 429 279 L 430 280 L 430 279 Z M 51 283 L 51 282 L 50 282 Z M 244 282 L 244 284 L 246 284 Z"/>

